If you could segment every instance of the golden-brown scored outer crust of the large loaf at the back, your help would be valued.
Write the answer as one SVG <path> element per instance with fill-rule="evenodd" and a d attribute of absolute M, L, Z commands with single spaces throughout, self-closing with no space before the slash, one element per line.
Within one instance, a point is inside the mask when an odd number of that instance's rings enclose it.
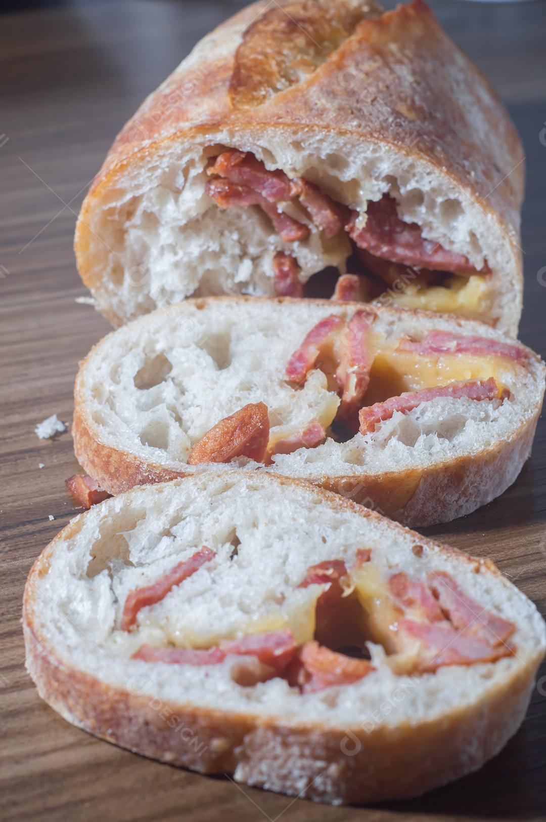
<path fill-rule="evenodd" d="M 519 314 L 524 155 L 512 121 L 423 0 L 381 11 L 371 0 L 264 0 L 205 37 L 127 122 L 85 198 L 75 241 L 85 284 L 102 277 L 90 215 L 126 169 L 226 129 L 258 143 L 264 131 L 289 141 L 305 130 L 388 144 L 451 178 L 509 238 Z"/>

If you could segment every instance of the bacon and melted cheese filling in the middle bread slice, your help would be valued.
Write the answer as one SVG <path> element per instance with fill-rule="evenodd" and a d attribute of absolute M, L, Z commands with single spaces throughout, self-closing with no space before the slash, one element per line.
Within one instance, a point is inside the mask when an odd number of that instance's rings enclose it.
<path fill-rule="evenodd" d="M 506 372 L 525 363 L 517 345 L 479 336 L 429 331 L 387 344 L 374 334 L 374 314 L 350 320 L 332 314 L 314 326 L 289 358 L 284 378 L 294 390 L 308 381 L 323 390 L 319 416 L 300 426 L 273 426 L 264 402 L 221 419 L 191 446 L 190 465 L 246 457 L 271 464 L 275 455 L 371 435 L 395 413 L 438 398 L 502 404 L 511 399 Z M 327 390 L 324 390 L 327 389 Z"/>

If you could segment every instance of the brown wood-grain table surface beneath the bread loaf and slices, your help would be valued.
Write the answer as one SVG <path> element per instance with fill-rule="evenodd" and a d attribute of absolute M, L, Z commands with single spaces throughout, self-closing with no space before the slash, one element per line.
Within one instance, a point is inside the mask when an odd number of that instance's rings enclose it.
<path fill-rule="evenodd" d="M 524 138 L 528 182 L 521 338 L 544 354 L 544 4 L 438 2 L 434 7 L 454 39 L 491 76 Z M 71 437 L 40 441 L 34 426 L 51 413 L 70 423 L 78 360 L 108 330 L 92 308 L 75 302 L 85 293 L 71 249 L 76 213 L 122 123 L 195 40 L 235 8 L 236 3 L 212 0 L 121 0 L 76 7 L 53 4 L 0 16 L 0 817 L 544 819 L 544 669 L 521 731 L 479 774 L 420 800 L 369 809 L 292 801 L 131 755 L 64 722 L 39 700 L 25 673 L 20 625 L 25 576 L 42 548 L 76 513 L 63 485 L 77 468 Z M 490 556 L 543 612 L 545 450 L 542 424 L 532 459 L 507 493 L 474 515 L 431 529 L 457 547 Z"/>

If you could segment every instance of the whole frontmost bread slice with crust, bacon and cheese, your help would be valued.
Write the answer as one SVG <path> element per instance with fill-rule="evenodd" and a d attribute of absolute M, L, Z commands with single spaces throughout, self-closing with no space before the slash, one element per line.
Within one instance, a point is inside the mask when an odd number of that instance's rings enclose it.
<path fill-rule="evenodd" d="M 544 622 L 489 560 L 267 474 L 135 488 L 30 572 L 26 664 L 78 727 L 321 801 L 415 796 L 519 727 Z"/>

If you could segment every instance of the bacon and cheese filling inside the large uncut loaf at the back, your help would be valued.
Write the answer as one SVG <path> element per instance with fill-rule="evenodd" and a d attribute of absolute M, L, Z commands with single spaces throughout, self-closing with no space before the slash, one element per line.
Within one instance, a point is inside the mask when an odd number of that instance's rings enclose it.
<path fill-rule="evenodd" d="M 452 312 L 486 320 L 491 307 L 487 263 L 476 270 L 468 258 L 441 242 L 423 238 L 420 226 L 406 223 L 389 194 L 369 201 L 365 214 L 334 201 L 314 183 L 268 170 L 250 152 L 226 150 L 207 169 L 206 192 L 220 208 L 255 206 L 288 245 L 305 241 L 311 228 L 332 240 L 341 233 L 351 240 L 349 274 L 342 274 L 332 291 L 335 300 L 388 301 L 407 308 Z M 301 215 L 301 219 L 298 219 Z M 305 221 L 304 221 L 305 220 Z M 279 251 L 273 257 L 273 284 L 279 297 L 303 297 L 304 285 L 296 257 Z M 321 272 L 306 291 L 312 296 Z"/>

